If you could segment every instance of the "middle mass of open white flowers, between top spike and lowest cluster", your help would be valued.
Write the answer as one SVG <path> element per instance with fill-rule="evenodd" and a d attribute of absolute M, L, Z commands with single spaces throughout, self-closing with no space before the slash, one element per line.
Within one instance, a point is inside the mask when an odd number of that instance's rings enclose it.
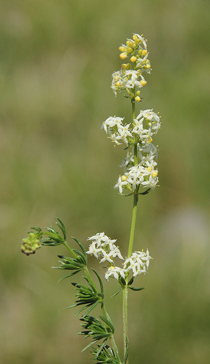
<path fill-rule="evenodd" d="M 127 157 L 121 164 L 124 175 L 119 176 L 118 183 L 114 188 L 119 188 L 122 194 L 124 188 L 134 191 L 138 185 L 144 188 L 154 189 L 158 183 L 157 148 L 152 144 L 152 137 L 160 128 L 160 117 L 154 111 L 141 110 L 133 127 L 123 124 L 123 118 L 109 117 L 102 128 L 116 145 L 123 142 L 129 147 Z M 138 163 L 134 161 L 134 145 L 137 145 Z"/>

